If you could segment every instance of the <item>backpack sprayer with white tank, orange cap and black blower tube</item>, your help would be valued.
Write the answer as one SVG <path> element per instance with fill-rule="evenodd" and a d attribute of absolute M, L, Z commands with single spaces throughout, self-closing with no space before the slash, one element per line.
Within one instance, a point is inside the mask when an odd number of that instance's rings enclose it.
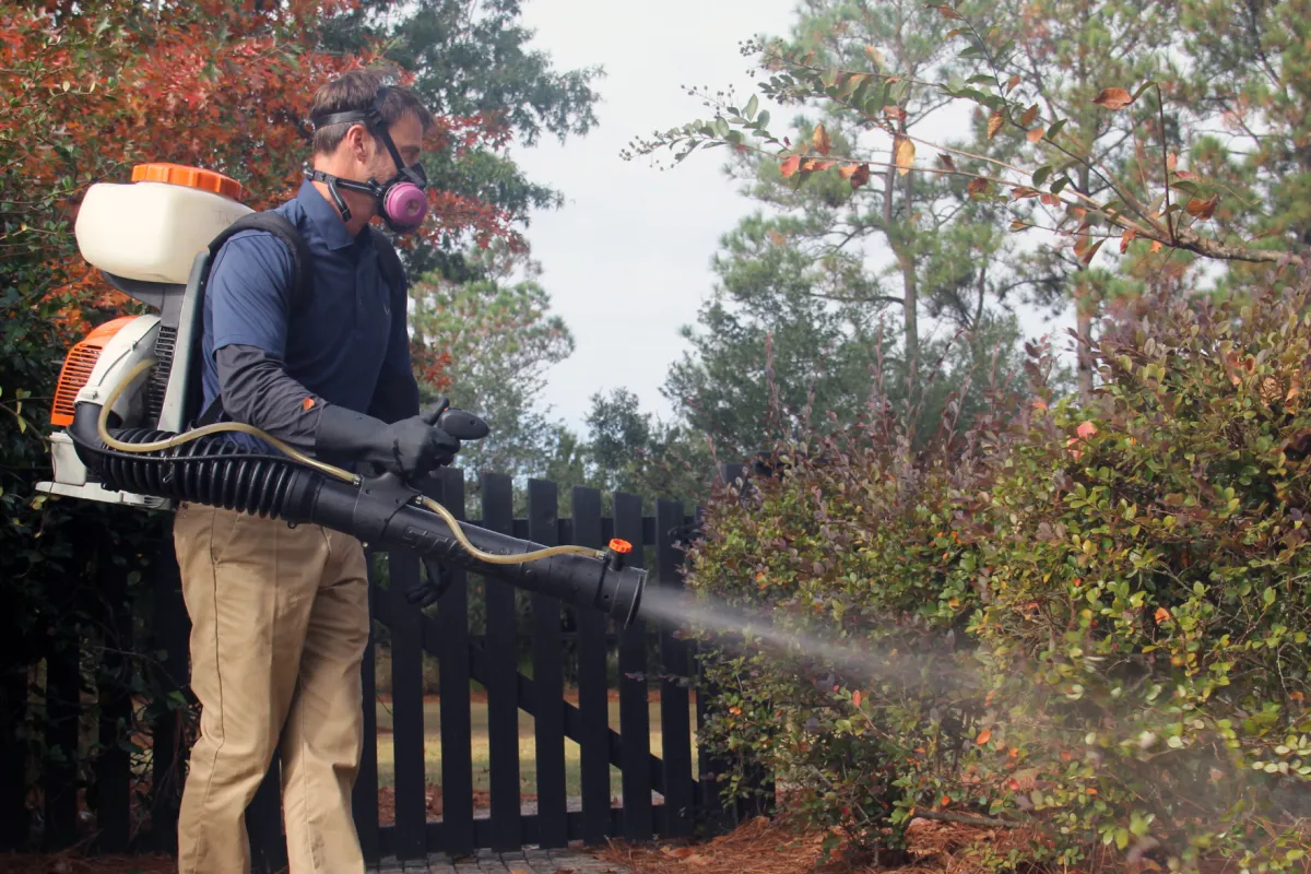
<path fill-rule="evenodd" d="M 202 404 L 197 350 L 211 242 L 233 223 L 267 215 L 240 194 L 225 176 L 170 164 L 134 168 L 130 185 L 90 186 L 75 227 L 83 258 L 156 312 L 114 318 L 69 350 L 51 411 L 51 423 L 64 428 L 51 435 L 54 481 L 38 491 L 144 510 L 191 502 L 317 524 L 417 553 L 431 586 L 408 592 L 416 603 L 444 591 L 444 562 L 632 624 L 646 571 L 624 565 L 627 541 L 604 550 L 543 546 L 460 523 L 396 474 L 337 468 L 241 422 L 191 427 Z M 460 440 L 488 432 L 456 409 L 444 410 L 438 426 Z M 225 432 L 252 435 L 278 453 L 252 452 Z"/>

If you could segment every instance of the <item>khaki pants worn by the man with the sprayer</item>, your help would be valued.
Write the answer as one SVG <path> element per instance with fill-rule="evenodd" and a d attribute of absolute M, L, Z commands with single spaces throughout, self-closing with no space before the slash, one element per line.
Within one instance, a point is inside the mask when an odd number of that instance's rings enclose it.
<path fill-rule="evenodd" d="M 359 874 L 350 805 L 368 643 L 359 541 L 197 504 L 178 510 L 173 539 L 202 708 L 182 791 L 178 870 L 250 870 L 245 808 L 279 750 L 291 873 Z"/>

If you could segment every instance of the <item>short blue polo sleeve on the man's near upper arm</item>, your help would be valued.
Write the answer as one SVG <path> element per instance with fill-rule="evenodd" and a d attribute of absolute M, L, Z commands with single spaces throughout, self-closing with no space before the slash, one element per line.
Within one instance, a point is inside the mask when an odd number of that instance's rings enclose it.
<path fill-rule="evenodd" d="M 228 240 L 214 259 L 205 291 L 214 351 L 253 346 L 282 360 L 294 275 L 291 253 L 271 233 L 243 232 Z"/>

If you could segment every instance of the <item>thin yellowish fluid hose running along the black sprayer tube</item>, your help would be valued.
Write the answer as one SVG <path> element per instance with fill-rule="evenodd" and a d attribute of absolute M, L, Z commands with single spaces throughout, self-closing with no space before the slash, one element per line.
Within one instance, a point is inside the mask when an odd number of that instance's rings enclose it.
<path fill-rule="evenodd" d="M 278 449 L 279 452 L 282 452 L 283 455 L 286 455 L 287 457 L 299 464 L 303 464 L 308 468 L 313 468 L 315 470 L 319 470 L 320 473 L 333 477 L 336 480 L 341 480 L 351 485 L 359 485 L 361 478 L 354 473 L 349 470 L 342 470 L 341 468 L 330 465 L 325 461 L 320 461 L 319 459 L 309 457 L 308 455 L 300 452 L 295 447 L 287 446 L 278 438 L 270 436 L 269 434 L 265 434 L 253 425 L 246 425 L 244 422 L 216 422 L 214 425 L 206 425 L 203 427 L 198 427 L 194 431 L 185 431 L 166 440 L 155 440 L 152 443 L 123 443 L 122 440 L 114 439 L 114 436 L 110 435 L 109 432 L 110 410 L 113 409 L 118 398 L 123 394 L 123 392 L 126 392 L 132 383 L 140 379 L 142 373 L 144 373 L 152 367 L 155 367 L 153 358 L 148 358 L 142 363 L 136 364 L 136 367 L 130 370 L 127 375 L 122 379 L 122 381 L 119 381 L 118 385 L 114 387 L 114 390 L 109 393 L 109 397 L 105 400 L 105 404 L 100 408 L 100 419 L 97 422 L 97 431 L 101 442 L 110 449 L 115 449 L 118 452 L 135 452 L 135 453 L 163 452 L 164 449 L 173 449 L 185 443 L 190 443 L 191 440 L 198 440 L 202 436 L 208 436 L 211 434 L 220 434 L 223 431 L 239 431 L 241 434 L 249 434 L 250 436 L 264 440 L 265 443 L 274 447 L 275 449 Z M 522 553 L 518 556 L 498 556 L 496 553 L 482 552 L 472 542 L 469 542 L 469 539 L 464 535 L 464 528 L 460 525 L 459 520 L 450 510 L 447 510 L 438 502 L 425 495 L 420 495 L 420 503 L 422 503 L 425 508 L 431 510 L 433 512 L 435 512 L 437 515 L 442 516 L 442 519 L 446 520 L 446 524 L 451 527 L 451 533 L 455 535 L 455 539 L 460 542 L 461 546 L 464 546 L 465 550 L 468 550 L 471 556 L 489 565 L 522 565 L 530 561 L 538 561 L 540 558 L 549 558 L 551 556 L 564 556 L 564 554 L 589 556 L 591 558 L 606 557 L 606 554 L 598 549 L 591 549 L 590 546 L 577 546 L 572 544 L 566 544 L 562 546 L 547 546 L 543 549 L 538 549 L 535 552 Z"/>

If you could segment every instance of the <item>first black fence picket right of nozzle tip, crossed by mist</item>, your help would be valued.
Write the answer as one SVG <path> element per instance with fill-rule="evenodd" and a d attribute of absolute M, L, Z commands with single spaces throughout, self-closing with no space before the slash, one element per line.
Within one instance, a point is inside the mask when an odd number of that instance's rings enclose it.
<path fill-rule="evenodd" d="M 676 501 L 656 502 L 656 583 L 682 590 L 682 552 L 674 542 L 675 529 L 683 524 L 683 506 Z M 691 710 L 687 702 L 687 643 L 669 629 L 659 632 L 661 663 L 661 736 L 665 760 L 665 814 L 667 833 L 680 837 L 692 833 L 692 738 L 688 729 Z"/>

